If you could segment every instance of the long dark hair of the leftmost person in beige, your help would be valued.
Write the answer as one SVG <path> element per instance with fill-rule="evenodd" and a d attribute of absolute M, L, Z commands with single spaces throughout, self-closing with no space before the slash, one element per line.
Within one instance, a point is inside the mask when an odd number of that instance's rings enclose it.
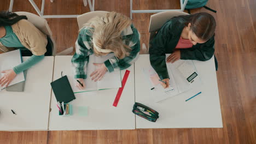
<path fill-rule="evenodd" d="M 27 17 L 25 15 L 17 15 L 8 11 L 0 11 L 0 27 L 11 26 L 22 19 L 27 20 Z"/>

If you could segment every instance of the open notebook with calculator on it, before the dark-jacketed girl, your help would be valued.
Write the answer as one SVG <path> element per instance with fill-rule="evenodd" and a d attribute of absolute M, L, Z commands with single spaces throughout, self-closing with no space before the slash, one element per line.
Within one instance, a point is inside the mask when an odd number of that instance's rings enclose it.
<path fill-rule="evenodd" d="M 166 56 L 166 58 L 168 55 Z M 195 71 L 195 65 L 191 60 L 178 60 L 174 63 L 166 63 L 168 74 L 170 77 L 170 85 L 168 88 L 163 88 L 161 82 L 159 81 L 159 76 L 156 71 L 150 66 L 149 68 L 143 68 L 146 79 L 149 80 L 152 97 L 155 102 L 165 100 L 167 98 L 173 97 L 177 94 L 187 92 L 190 89 L 201 85 L 200 75 L 197 75 L 193 83 L 189 83 L 187 79 L 183 76 L 179 70 L 182 64 L 190 65 Z M 185 70 L 185 69 L 184 69 Z M 197 71 L 196 71 L 197 72 Z M 197 73 L 198 74 L 198 73 Z"/>

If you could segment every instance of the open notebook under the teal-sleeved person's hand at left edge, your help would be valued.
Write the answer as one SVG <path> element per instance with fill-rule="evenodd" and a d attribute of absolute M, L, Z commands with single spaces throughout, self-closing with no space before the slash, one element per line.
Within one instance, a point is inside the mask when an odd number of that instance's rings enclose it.
<path fill-rule="evenodd" d="M 3 70 L 13 69 L 16 65 L 22 63 L 20 50 L 14 50 L 10 52 L 5 52 L 0 54 L 0 77 L 4 74 L 1 73 Z M 10 82 L 9 86 L 14 85 L 16 83 L 25 81 L 24 73 L 20 73 L 16 75 L 13 81 Z M 4 88 L 5 86 L 0 88 Z M 0 91 L 1 91 L 0 89 Z"/>

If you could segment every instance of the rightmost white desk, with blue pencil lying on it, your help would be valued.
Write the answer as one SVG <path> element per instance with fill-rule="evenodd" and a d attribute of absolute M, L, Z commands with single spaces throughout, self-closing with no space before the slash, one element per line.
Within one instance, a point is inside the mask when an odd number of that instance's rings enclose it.
<path fill-rule="evenodd" d="M 154 103 L 148 99 L 150 89 L 142 68 L 150 65 L 149 55 L 140 55 L 135 63 L 135 99 L 159 112 L 159 119 L 149 122 L 136 116 L 136 128 L 222 128 L 214 58 L 206 62 L 194 61 L 202 86 L 175 97 Z M 198 92 L 197 97 L 185 102 Z"/>

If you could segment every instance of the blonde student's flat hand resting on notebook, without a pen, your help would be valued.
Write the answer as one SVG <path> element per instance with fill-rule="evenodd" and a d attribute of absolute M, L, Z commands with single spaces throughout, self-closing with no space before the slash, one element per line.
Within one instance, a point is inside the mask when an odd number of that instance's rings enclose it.
<path fill-rule="evenodd" d="M 107 68 L 104 63 L 94 63 L 94 65 L 97 66 L 97 69 L 91 73 L 90 75 L 90 77 L 92 77 L 91 80 L 100 81 L 104 76 L 104 74 L 106 74 Z"/>

